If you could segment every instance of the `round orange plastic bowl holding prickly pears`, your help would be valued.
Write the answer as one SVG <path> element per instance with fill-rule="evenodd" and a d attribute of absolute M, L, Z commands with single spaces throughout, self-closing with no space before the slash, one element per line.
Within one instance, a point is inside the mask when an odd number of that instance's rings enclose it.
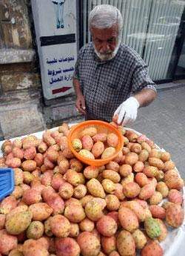
<path fill-rule="evenodd" d="M 74 150 L 72 146 L 72 141 L 77 138 L 80 139 L 81 131 L 84 131 L 85 128 L 90 128 L 90 127 L 95 127 L 98 133 L 106 133 L 106 134 L 114 133 L 118 136 L 118 145 L 115 148 L 115 154 L 112 155 L 112 157 L 108 157 L 105 159 L 91 160 L 86 157 L 81 157 L 81 155 Z M 124 140 L 121 135 L 121 132 L 118 131 L 118 129 L 115 128 L 113 125 L 110 125 L 110 123 L 99 121 L 99 120 L 90 120 L 90 121 L 81 122 L 78 125 L 74 125 L 70 129 L 70 134 L 68 135 L 68 144 L 69 144 L 70 150 L 73 152 L 75 157 L 78 158 L 78 160 L 80 160 L 83 163 L 86 163 L 87 165 L 101 166 L 109 163 L 111 160 L 113 160 L 115 157 L 118 156 L 118 153 L 122 150 L 124 146 Z"/>

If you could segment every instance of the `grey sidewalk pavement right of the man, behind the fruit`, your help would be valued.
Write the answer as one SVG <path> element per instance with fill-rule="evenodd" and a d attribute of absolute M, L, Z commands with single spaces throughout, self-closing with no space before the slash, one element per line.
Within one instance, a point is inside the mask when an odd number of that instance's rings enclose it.
<path fill-rule="evenodd" d="M 139 109 L 138 118 L 130 127 L 169 151 L 185 178 L 185 86 L 158 91 L 158 98 Z"/>

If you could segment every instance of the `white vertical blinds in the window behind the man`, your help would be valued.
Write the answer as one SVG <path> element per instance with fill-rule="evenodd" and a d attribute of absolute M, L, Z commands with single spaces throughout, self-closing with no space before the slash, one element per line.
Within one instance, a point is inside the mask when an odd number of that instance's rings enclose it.
<path fill-rule="evenodd" d="M 123 17 L 122 42 L 141 55 L 153 80 L 166 79 L 185 0 L 83 0 L 83 4 L 84 44 L 90 42 L 90 10 L 112 4 Z"/>

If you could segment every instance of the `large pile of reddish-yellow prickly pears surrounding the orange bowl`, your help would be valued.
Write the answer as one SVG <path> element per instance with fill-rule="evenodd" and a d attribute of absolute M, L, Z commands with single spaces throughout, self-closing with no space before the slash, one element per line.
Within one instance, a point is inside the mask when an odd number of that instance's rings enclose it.
<path fill-rule="evenodd" d="M 160 242 L 184 220 L 184 182 L 168 152 L 118 129 L 124 147 L 100 167 L 74 157 L 65 123 L 41 140 L 3 143 L 0 167 L 14 169 L 16 186 L 0 203 L 0 255 L 164 255 Z M 105 140 L 95 131 L 84 136 Z M 73 145 L 80 151 L 86 142 Z"/>

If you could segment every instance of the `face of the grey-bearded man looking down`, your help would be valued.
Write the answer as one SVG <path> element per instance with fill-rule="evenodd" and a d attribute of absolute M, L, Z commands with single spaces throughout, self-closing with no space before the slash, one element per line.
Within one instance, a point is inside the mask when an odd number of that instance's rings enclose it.
<path fill-rule="evenodd" d="M 95 53 L 101 60 L 112 59 L 118 51 L 120 42 L 118 40 L 118 25 L 115 24 L 110 28 L 99 29 L 91 28 L 92 43 Z"/>

